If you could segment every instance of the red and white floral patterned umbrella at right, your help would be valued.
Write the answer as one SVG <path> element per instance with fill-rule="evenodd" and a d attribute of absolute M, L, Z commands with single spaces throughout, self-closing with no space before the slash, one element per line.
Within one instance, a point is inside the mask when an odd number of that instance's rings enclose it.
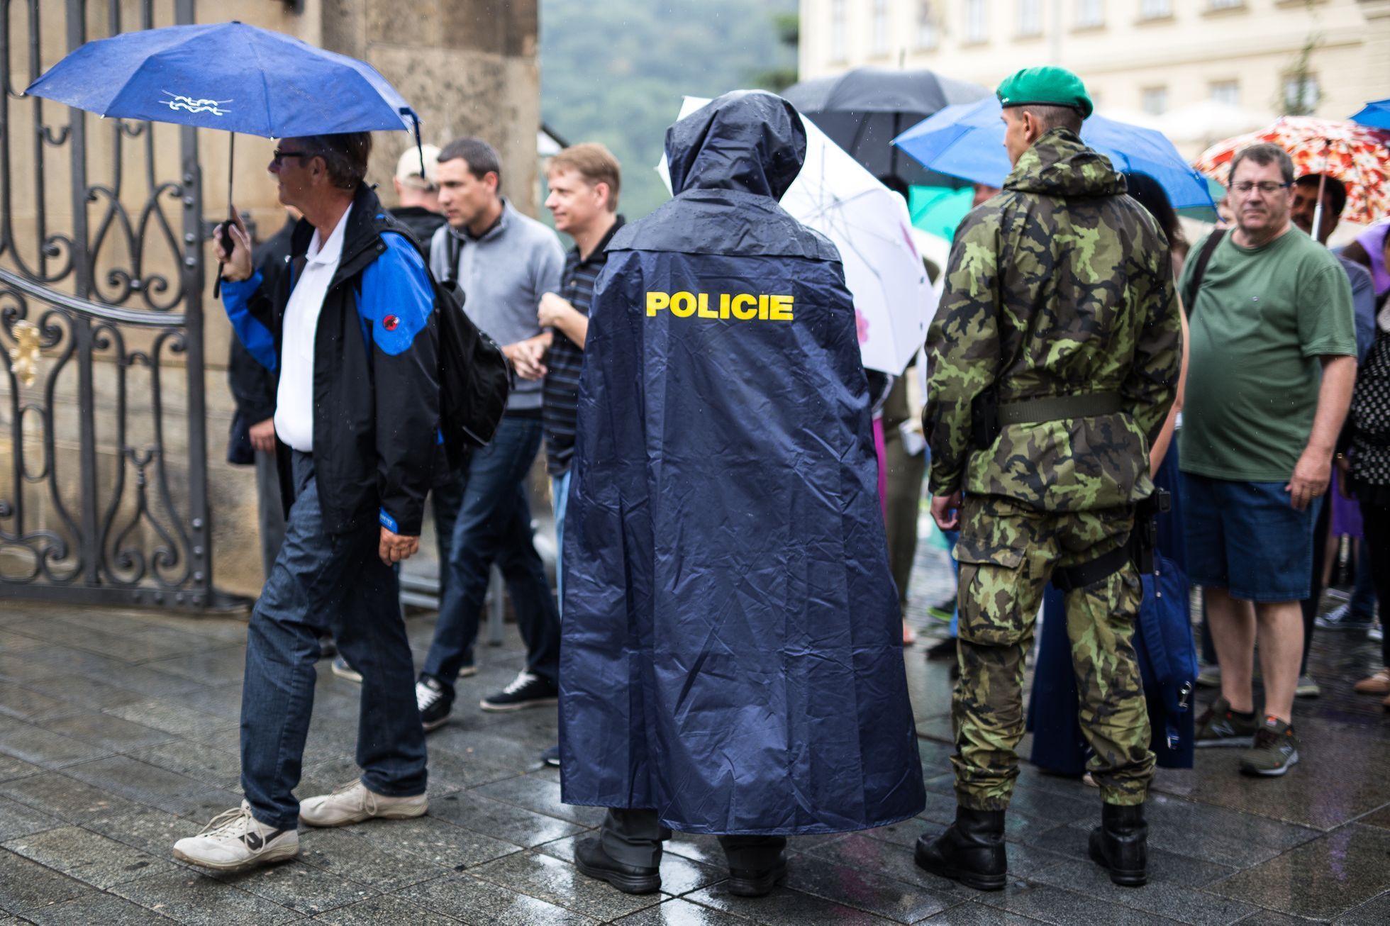
<path fill-rule="evenodd" d="M 1341 181 L 1347 186 L 1343 218 L 1369 224 L 1390 216 L 1390 132 L 1355 122 L 1286 115 L 1269 128 L 1212 145 L 1193 161 L 1193 167 L 1220 184 L 1229 184 L 1226 165 L 1230 159 L 1258 142 L 1270 142 L 1289 152 L 1300 177 L 1325 174 Z"/>

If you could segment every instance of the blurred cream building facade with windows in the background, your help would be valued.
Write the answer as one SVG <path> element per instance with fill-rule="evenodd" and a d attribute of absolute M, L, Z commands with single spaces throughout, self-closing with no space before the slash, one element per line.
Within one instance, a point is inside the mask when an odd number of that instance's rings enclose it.
<path fill-rule="evenodd" d="M 803 79 L 880 65 L 994 88 L 1059 64 L 1119 118 L 1193 113 L 1186 154 L 1241 122 L 1346 118 L 1390 92 L 1390 0 L 802 0 L 801 28 Z"/>

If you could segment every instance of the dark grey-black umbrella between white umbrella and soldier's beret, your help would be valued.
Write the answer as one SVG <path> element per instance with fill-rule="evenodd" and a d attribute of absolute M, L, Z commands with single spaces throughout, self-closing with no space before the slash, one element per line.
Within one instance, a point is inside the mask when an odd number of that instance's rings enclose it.
<path fill-rule="evenodd" d="M 802 81 L 783 92 L 874 177 L 897 177 L 909 186 L 960 186 L 962 181 L 927 171 L 899 154 L 892 139 L 952 103 L 973 103 L 988 95 L 979 83 L 933 71 L 887 68 L 855 68 Z"/>

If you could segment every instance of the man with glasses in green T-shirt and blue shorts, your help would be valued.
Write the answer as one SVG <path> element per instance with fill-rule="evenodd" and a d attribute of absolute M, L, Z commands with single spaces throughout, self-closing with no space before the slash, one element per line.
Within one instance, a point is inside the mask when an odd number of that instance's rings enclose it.
<path fill-rule="evenodd" d="M 1283 149 L 1238 152 L 1236 228 L 1197 246 L 1179 286 L 1191 314 L 1179 437 L 1187 562 L 1207 599 L 1222 687 L 1197 722 L 1197 745 L 1248 747 L 1240 769 L 1261 776 L 1298 762 L 1300 602 L 1357 377 L 1347 274 L 1316 241 L 1290 234 L 1293 184 Z M 1262 715 L 1251 690 L 1257 634 Z"/>

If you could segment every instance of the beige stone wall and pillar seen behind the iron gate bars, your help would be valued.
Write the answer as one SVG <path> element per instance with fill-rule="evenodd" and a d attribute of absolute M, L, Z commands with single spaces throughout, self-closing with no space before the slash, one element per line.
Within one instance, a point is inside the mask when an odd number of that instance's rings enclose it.
<path fill-rule="evenodd" d="M 10 31 L 15 46 L 28 32 L 28 21 L 22 4 L 11 4 Z M 122 0 L 120 8 L 121 29 L 138 28 L 140 4 Z M 61 25 L 61 4 L 43 4 L 43 15 L 49 17 L 43 31 L 40 49 L 42 67 L 51 65 L 64 53 L 65 36 Z M 271 3 L 268 0 L 231 0 L 197 4 L 199 22 L 240 19 L 242 22 L 286 32 L 335 51 L 342 51 L 367 60 L 389 79 L 416 107 L 423 120 L 421 133 L 425 142 L 443 145 L 460 135 L 477 135 L 498 147 L 503 161 L 503 192 L 512 202 L 528 214 L 537 213 L 537 154 L 535 133 L 539 125 L 539 72 L 537 67 L 537 0 L 480 1 L 480 0 L 303 0 L 295 4 Z M 172 4 L 156 3 L 154 25 L 172 22 Z M 88 11 L 88 35 L 100 38 L 110 33 L 110 8 L 93 1 Z M 11 82 L 25 86 L 29 82 L 28 58 L 18 51 L 11 61 Z M 33 266 L 38 261 L 42 238 L 38 222 L 38 185 L 35 178 L 33 101 L 10 103 L 10 182 L 8 220 L 13 247 L 0 253 L 0 266 L 14 268 L 14 254 Z M 61 106 L 44 104 L 44 124 L 61 127 L 67 122 L 67 111 Z M 86 120 L 88 182 L 108 182 L 114 179 L 115 125 L 103 124 L 89 117 Z M 204 213 L 208 218 L 225 211 L 228 179 L 229 136 L 220 132 L 200 132 L 199 156 L 203 168 Z M 160 127 L 154 135 L 154 164 L 158 179 L 178 178 L 178 131 Z M 378 184 L 382 199 L 391 204 L 391 177 L 396 157 L 413 143 L 406 132 L 381 132 L 374 139 L 374 157 L 368 179 Z M 143 139 L 124 139 L 121 202 L 126 213 L 138 220 L 149 200 L 149 188 L 143 182 L 146 167 Z M 265 167 L 270 161 L 274 142 L 249 136 L 238 136 L 235 145 L 234 199 L 239 210 L 250 214 L 261 236 L 272 234 L 284 221 L 284 213 L 275 196 L 275 184 Z M 71 234 L 72 197 L 70 181 L 70 149 L 47 146 L 43 152 L 43 202 L 46 204 L 46 234 Z M 168 197 L 165 197 L 168 199 Z M 183 234 L 182 206 L 177 196 L 164 203 L 174 242 L 160 241 L 145 259 L 145 273 L 161 273 L 177 279 L 178 247 Z M 88 221 L 92 235 L 104 214 L 101 203 L 89 204 Z M 100 271 L 106 267 L 129 267 L 129 247 L 120 235 L 108 236 L 99 259 L 97 293 L 108 293 L 114 299 L 117 289 L 103 282 Z M 211 261 L 211 247 L 206 252 Z M 61 259 L 54 259 L 61 263 Z M 234 467 L 225 463 L 227 434 L 232 420 L 234 402 L 227 387 L 227 356 L 231 330 L 220 304 L 211 298 L 211 281 L 215 277 L 215 263 L 207 268 L 207 291 L 203 296 L 206 317 L 206 371 L 204 388 L 207 403 L 207 456 L 208 495 L 213 526 L 213 569 L 220 588 L 240 594 L 254 594 L 261 583 L 261 566 L 256 530 L 256 489 L 250 467 Z M 56 286 L 71 292 L 72 281 L 64 279 Z M 0 296 L 0 302 L 4 298 Z M 135 296 L 124 304 L 145 307 Z M 38 306 L 35 306 L 38 307 Z M 4 306 L 0 304 L 0 310 Z M 181 311 L 175 307 L 174 311 Z M 31 311 L 31 318 L 35 317 Z M 145 331 L 122 330 L 133 350 L 152 343 L 153 335 Z M 70 336 L 70 335 L 65 335 Z M 0 350 L 7 350 L 13 342 L 0 334 Z M 44 481 L 31 481 L 14 476 L 14 435 L 24 441 L 25 457 L 31 467 L 43 466 L 46 435 L 39 416 L 19 413 L 15 424 L 15 407 L 24 405 L 46 405 L 43 392 L 47 375 L 58 363 L 63 350 L 60 342 L 54 350 L 46 350 L 40 362 L 39 382 L 33 388 L 18 387 L 11 395 L 7 377 L 0 377 L 0 502 L 22 496 L 26 514 L 26 531 L 54 530 L 61 535 L 71 531 L 64 527 L 58 513 L 61 505 L 70 513 L 76 512 L 83 488 L 95 491 L 103 505 L 114 498 L 120 480 L 125 480 L 125 491 L 111 514 L 113 523 L 124 526 L 135 521 L 132 537 L 136 545 L 152 552 L 160 545 L 158 528 L 177 528 L 177 512 L 171 513 L 154 491 L 156 464 L 139 467 L 129 455 L 122 455 L 122 439 L 117 434 L 120 385 L 125 380 L 126 434 L 124 444 L 145 446 L 152 442 L 153 416 L 152 377 L 140 364 L 128 368 L 115 362 L 117 350 L 97 352 L 93 364 L 95 409 L 97 421 L 96 482 L 95 487 L 81 484 L 81 442 L 78 439 L 78 371 L 70 362 L 54 378 L 53 388 L 53 466 L 58 478 L 57 501 Z M 168 484 L 181 506 L 188 484 L 188 382 L 186 367 L 179 355 L 164 352 L 160 389 L 164 414 L 161 416 L 164 439 L 164 464 Z M 147 501 L 153 516 L 139 514 L 139 492 L 135 484 L 142 474 L 147 480 Z M 103 507 L 101 516 L 106 516 Z M 0 530 L 13 530 L 13 523 L 0 520 Z M 25 569 L 26 553 L 14 546 L 0 544 L 0 573 Z"/>

